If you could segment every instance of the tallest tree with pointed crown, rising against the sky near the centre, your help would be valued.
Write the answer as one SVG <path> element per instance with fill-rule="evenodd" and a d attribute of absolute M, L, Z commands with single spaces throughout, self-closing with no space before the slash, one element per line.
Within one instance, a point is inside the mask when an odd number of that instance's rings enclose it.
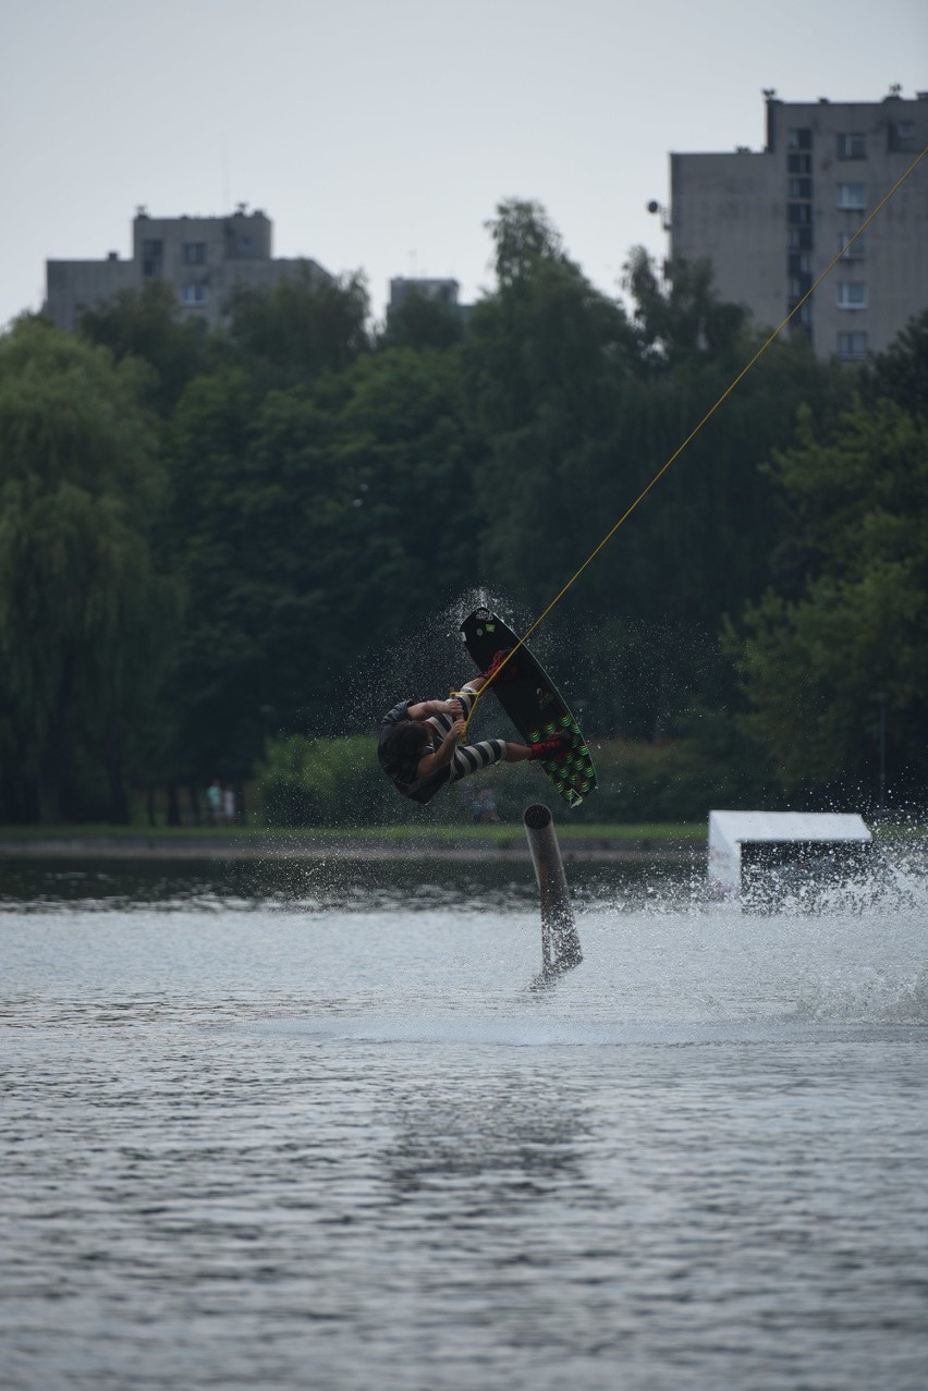
<path fill-rule="evenodd" d="M 486 441 L 479 556 L 494 584 L 537 609 L 601 534 L 589 494 L 615 469 L 633 335 L 534 204 L 501 204 L 494 241 L 499 289 L 474 306 L 467 352 Z"/>

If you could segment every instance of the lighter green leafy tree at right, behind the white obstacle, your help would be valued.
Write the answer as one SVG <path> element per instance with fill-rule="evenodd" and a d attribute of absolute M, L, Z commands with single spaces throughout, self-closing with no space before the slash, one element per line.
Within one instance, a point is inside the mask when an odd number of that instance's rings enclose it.
<path fill-rule="evenodd" d="M 889 401 L 856 405 L 824 438 L 808 415 L 776 456 L 806 576 L 733 634 L 751 712 L 783 786 L 875 787 L 878 694 L 896 790 L 928 776 L 928 423 Z"/>

